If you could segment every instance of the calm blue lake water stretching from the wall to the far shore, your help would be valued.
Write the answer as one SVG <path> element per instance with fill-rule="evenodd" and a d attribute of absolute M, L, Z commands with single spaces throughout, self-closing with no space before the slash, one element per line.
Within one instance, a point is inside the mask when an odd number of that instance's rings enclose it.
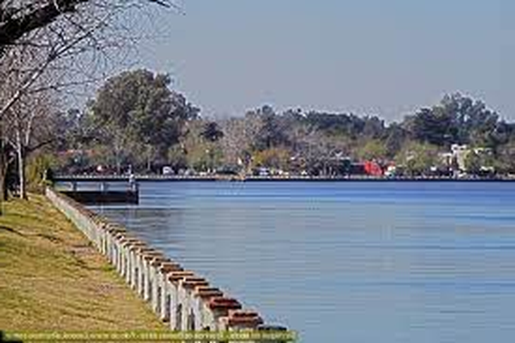
<path fill-rule="evenodd" d="M 143 183 L 102 207 L 301 342 L 512 342 L 515 183 Z"/>

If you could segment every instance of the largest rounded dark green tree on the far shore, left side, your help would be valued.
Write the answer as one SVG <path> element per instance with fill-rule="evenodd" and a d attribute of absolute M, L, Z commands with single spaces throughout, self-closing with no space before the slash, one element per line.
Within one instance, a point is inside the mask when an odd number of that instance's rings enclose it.
<path fill-rule="evenodd" d="M 198 115 L 199 110 L 170 90 L 169 84 L 167 75 L 125 71 L 98 90 L 90 114 L 97 133 L 112 148 L 118 172 L 134 147 L 145 152 L 147 161 L 166 160 L 183 124 Z"/>

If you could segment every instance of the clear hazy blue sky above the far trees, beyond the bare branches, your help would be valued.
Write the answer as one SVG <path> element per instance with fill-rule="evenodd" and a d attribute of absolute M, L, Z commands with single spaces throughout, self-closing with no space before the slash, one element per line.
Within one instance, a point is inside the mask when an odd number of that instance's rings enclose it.
<path fill-rule="evenodd" d="M 460 91 L 515 119 L 515 1 L 176 0 L 139 65 L 206 116 L 271 104 L 399 119 Z"/>

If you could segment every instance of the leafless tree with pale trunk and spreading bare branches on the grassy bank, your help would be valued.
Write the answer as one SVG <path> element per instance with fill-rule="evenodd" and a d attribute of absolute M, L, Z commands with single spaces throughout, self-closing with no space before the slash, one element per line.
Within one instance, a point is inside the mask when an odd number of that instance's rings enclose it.
<path fill-rule="evenodd" d="M 37 116 L 52 92 L 94 82 L 131 51 L 152 0 L 0 0 L 0 121 L 16 147 L 21 181 Z M 35 106 L 37 103 L 37 106 Z M 0 159 L 0 181 L 7 159 Z M 4 184 L 2 184 L 4 186 Z"/>

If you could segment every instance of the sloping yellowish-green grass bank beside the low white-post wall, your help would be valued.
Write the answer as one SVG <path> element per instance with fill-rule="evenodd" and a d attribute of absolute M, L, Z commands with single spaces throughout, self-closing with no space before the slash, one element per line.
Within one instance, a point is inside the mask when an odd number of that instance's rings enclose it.
<path fill-rule="evenodd" d="M 0 217 L 0 329 L 160 329 L 66 217 L 40 195 L 4 203 Z"/>

